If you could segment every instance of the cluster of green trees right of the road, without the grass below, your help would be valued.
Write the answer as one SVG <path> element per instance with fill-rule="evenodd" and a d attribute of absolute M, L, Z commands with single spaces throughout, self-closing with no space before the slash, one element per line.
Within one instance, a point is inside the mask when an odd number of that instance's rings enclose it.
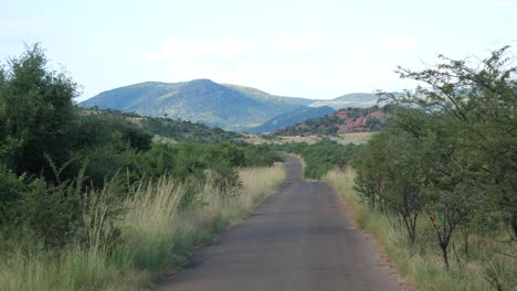
<path fill-rule="evenodd" d="M 451 60 L 423 71 L 403 95 L 380 93 L 399 109 L 357 160 L 357 190 L 371 207 L 425 213 L 449 267 L 449 245 L 472 220 L 498 220 L 517 238 L 517 67 L 503 47 L 481 61 Z M 409 213 L 408 213 L 409 212 Z M 499 219 L 499 217 L 505 217 Z M 408 227 L 412 241 L 412 227 Z"/>

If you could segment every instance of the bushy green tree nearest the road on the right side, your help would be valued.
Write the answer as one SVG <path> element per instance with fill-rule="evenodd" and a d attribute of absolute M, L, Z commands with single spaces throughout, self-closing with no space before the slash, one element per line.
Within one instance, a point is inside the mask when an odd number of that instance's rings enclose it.
<path fill-rule="evenodd" d="M 426 171 L 422 151 L 423 120 L 414 109 L 399 108 L 387 130 L 376 134 L 357 160 L 356 190 L 371 207 L 395 214 L 411 244 L 425 206 L 422 181 Z"/>

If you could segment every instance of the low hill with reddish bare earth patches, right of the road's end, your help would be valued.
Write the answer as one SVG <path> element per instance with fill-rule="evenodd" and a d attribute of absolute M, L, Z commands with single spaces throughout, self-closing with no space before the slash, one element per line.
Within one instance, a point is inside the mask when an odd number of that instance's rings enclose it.
<path fill-rule="evenodd" d="M 368 132 L 382 128 L 392 111 L 391 106 L 345 108 L 335 114 L 308 119 L 302 123 L 275 131 L 276 136 L 314 136 Z"/>

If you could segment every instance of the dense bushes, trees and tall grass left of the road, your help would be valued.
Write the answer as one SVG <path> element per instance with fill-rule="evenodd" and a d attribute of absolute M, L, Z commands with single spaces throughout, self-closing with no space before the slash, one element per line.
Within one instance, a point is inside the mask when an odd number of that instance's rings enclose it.
<path fill-rule="evenodd" d="M 155 142 L 209 129 L 85 114 L 75 96 L 39 45 L 0 66 L 1 290 L 144 289 L 283 183 L 268 148 Z"/>

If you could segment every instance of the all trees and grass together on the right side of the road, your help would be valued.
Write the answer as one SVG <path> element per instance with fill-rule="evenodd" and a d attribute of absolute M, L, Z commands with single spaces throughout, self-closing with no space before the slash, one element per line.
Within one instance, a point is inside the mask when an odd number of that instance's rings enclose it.
<path fill-rule="evenodd" d="M 517 288 L 517 79 L 507 47 L 441 57 L 351 169 L 324 177 L 420 290 Z"/>

